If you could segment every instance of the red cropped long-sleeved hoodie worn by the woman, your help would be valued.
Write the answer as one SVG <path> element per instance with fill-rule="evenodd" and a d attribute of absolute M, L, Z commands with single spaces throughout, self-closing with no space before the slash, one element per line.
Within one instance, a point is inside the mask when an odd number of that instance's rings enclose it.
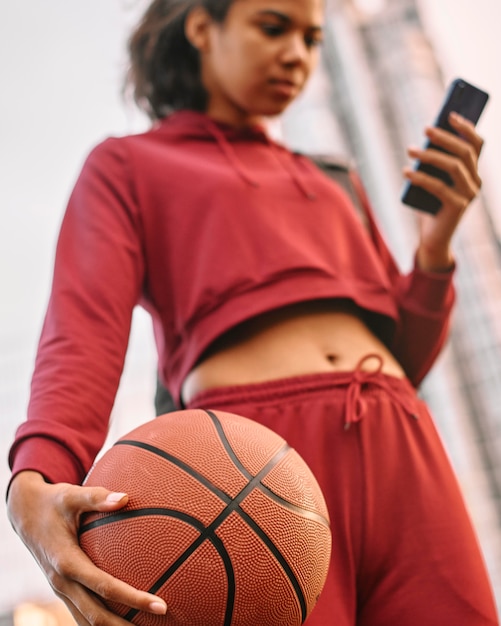
<path fill-rule="evenodd" d="M 13 475 L 80 483 L 102 447 L 132 312 L 150 312 L 179 399 L 222 333 L 288 304 L 348 298 L 417 385 L 447 335 L 452 272 L 400 274 L 365 201 L 257 127 L 182 111 L 109 138 L 70 196 Z M 368 319 L 369 319 L 368 317 Z"/>

